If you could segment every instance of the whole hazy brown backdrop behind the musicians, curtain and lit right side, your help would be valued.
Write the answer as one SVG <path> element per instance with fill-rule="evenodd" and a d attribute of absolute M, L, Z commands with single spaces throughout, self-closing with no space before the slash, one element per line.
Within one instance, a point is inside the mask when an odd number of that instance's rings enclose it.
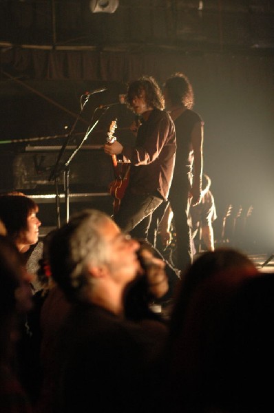
<path fill-rule="evenodd" d="M 76 114 L 86 87 L 108 87 L 105 97 L 94 95 L 96 103 L 107 103 L 142 74 L 162 84 L 173 72 L 185 72 L 193 84 L 194 108 L 204 118 L 204 171 L 212 180 L 219 226 L 228 204 L 233 204 L 232 224 L 240 207 L 246 218 L 252 205 L 250 241 L 274 249 L 273 55 L 18 48 L 2 50 L 1 67 L 1 140 L 58 133 L 57 124 L 72 123 L 69 112 L 53 109 L 43 96 Z"/>

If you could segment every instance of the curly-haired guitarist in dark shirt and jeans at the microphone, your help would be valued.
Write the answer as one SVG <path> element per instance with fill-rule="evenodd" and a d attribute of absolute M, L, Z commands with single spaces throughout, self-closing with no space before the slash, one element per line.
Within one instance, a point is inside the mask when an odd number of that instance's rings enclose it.
<path fill-rule="evenodd" d="M 134 148 L 118 140 L 105 145 L 110 156 L 117 155 L 131 164 L 130 179 L 114 220 L 123 231 L 147 239 L 151 213 L 167 200 L 176 153 L 175 128 L 164 109 L 160 87 L 151 76 L 129 84 L 127 102 L 142 115 Z"/>

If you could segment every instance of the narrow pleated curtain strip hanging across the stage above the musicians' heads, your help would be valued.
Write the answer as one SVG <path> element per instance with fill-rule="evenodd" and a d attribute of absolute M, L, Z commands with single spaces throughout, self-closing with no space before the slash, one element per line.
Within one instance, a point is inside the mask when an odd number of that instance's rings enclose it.
<path fill-rule="evenodd" d="M 209 52 L 95 52 L 89 50 L 1 49 L 1 66 L 12 74 L 40 80 L 131 81 L 152 74 L 158 81 L 171 72 L 218 85 L 245 83 L 273 86 L 274 55 Z M 4 75 L 2 75 L 4 76 Z M 263 82 L 263 83 L 262 83 Z"/>

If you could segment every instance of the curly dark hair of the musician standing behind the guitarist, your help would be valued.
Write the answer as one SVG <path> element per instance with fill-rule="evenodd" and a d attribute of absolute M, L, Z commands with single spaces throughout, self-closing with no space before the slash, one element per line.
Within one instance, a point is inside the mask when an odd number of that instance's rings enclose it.
<path fill-rule="evenodd" d="M 191 83 L 185 74 L 177 72 L 173 74 L 164 84 L 169 99 L 173 105 L 183 104 L 187 109 L 194 105 L 194 94 Z"/>

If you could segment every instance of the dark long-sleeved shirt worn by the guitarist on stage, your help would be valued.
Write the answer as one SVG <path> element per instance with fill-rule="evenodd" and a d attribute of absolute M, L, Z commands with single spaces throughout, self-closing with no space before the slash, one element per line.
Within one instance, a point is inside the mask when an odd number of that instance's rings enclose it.
<path fill-rule="evenodd" d="M 124 162 L 131 162 L 128 191 L 153 193 L 167 199 L 176 153 L 175 127 L 167 112 L 154 109 L 138 129 L 136 146 L 125 146 Z"/>

